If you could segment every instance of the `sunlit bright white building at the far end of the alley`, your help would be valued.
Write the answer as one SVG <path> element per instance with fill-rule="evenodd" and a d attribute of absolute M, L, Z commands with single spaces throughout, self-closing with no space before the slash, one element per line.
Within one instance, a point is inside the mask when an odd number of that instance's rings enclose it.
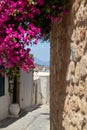
<path fill-rule="evenodd" d="M 49 75 L 46 71 L 34 72 L 34 104 L 49 103 Z"/>

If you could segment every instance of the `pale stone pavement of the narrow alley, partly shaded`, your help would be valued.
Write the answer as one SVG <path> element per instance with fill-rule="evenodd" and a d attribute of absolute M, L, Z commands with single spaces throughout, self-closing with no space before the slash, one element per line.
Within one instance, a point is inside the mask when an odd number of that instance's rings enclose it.
<path fill-rule="evenodd" d="M 49 106 L 25 111 L 20 118 L 8 117 L 0 122 L 0 130 L 50 130 Z"/>

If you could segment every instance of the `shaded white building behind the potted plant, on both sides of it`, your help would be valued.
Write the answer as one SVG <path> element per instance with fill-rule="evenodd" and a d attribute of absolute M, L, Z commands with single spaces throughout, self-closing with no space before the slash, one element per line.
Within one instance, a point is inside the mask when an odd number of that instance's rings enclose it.
<path fill-rule="evenodd" d="M 33 73 L 25 73 L 21 71 L 20 84 L 17 88 L 17 102 L 21 109 L 25 109 L 32 105 L 33 92 Z M 8 78 L 1 78 L 0 76 L 0 120 L 6 118 L 9 114 L 9 104 L 11 98 L 9 96 Z"/>

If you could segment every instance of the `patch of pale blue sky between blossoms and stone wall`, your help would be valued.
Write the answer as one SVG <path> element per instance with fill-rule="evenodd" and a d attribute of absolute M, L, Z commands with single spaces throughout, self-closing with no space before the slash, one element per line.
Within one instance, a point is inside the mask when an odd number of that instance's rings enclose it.
<path fill-rule="evenodd" d="M 40 59 L 41 61 L 50 61 L 50 43 L 49 42 L 39 42 L 37 45 L 30 46 L 30 53 L 34 57 Z"/>

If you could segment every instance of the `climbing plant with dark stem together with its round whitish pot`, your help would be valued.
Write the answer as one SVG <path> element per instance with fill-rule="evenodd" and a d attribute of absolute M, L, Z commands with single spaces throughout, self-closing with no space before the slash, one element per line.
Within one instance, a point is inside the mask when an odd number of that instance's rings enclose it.
<path fill-rule="evenodd" d="M 8 79 L 9 79 L 9 94 L 10 94 L 10 105 L 9 112 L 13 116 L 17 116 L 20 112 L 20 106 L 17 100 L 17 85 L 18 79 L 20 77 L 20 71 L 18 68 L 8 70 Z"/>

